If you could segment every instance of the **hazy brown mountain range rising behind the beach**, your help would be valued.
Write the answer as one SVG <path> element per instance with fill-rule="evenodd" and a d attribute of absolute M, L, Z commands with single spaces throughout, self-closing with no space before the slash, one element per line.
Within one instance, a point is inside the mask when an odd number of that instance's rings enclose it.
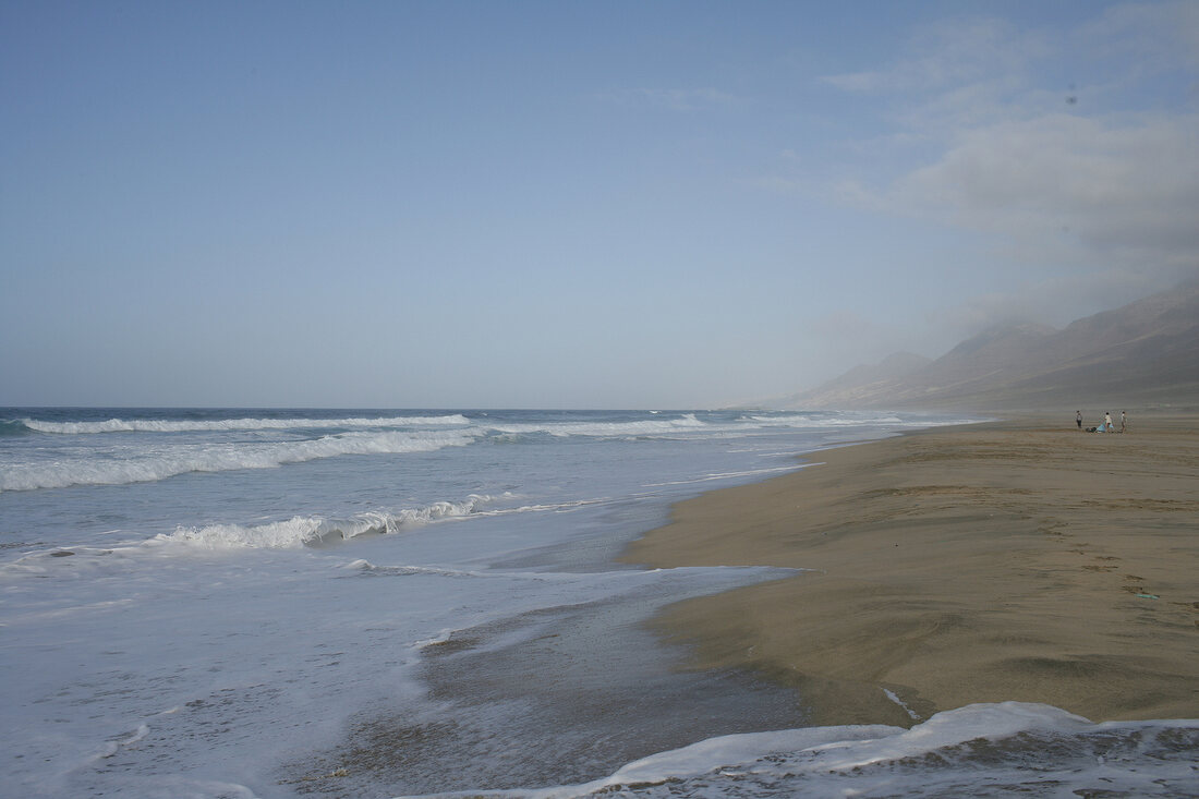
<path fill-rule="evenodd" d="M 784 408 L 1034 408 L 1199 403 L 1199 283 L 1071 323 L 996 328 L 929 361 L 897 353 Z"/>

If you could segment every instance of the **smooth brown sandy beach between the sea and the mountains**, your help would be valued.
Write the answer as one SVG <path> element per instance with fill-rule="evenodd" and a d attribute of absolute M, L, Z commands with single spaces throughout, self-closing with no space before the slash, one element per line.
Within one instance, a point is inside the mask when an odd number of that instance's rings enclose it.
<path fill-rule="evenodd" d="M 626 552 L 812 570 L 669 608 L 655 625 L 697 667 L 795 685 L 813 723 L 912 723 L 882 689 L 921 717 L 1199 717 L 1199 417 L 1103 434 L 1070 413 L 808 459 L 680 503 Z"/>

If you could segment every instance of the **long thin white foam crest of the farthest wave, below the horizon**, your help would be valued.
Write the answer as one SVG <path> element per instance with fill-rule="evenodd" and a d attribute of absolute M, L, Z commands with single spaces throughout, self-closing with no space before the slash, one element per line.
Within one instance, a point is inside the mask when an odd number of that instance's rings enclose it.
<path fill-rule="evenodd" d="M 372 419 L 351 416 L 348 419 L 216 419 L 216 420 L 168 420 L 168 419 L 109 419 L 100 422 L 52 422 L 37 419 L 20 420 L 25 427 L 41 433 L 89 434 L 89 433 L 183 433 L 237 429 L 306 429 L 324 427 L 412 427 L 417 425 L 469 425 L 462 414 L 440 416 L 390 416 Z"/>

